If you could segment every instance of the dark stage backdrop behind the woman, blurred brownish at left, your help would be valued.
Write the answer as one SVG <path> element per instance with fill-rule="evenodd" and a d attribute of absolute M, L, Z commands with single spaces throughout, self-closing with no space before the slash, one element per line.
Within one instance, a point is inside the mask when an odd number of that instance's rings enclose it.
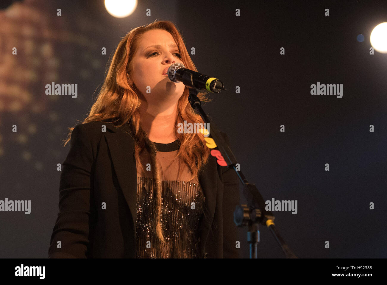
<path fill-rule="evenodd" d="M 265 200 L 298 201 L 296 215 L 274 212 L 292 251 L 386 258 L 387 54 L 369 48 L 373 27 L 387 21 L 387 2 L 360 0 L 140 0 L 123 19 L 103 0 L 25 0 L 0 10 L 0 199 L 31 200 L 29 215 L 0 212 L 0 258 L 48 256 L 57 164 L 69 150 L 60 140 L 87 117 L 120 39 L 156 19 L 175 22 L 188 51 L 195 47 L 199 72 L 224 82 L 227 91 L 210 94 L 204 110 L 229 135 L 249 182 Z M 78 97 L 46 95 L 51 81 L 78 84 Z M 311 95 L 317 81 L 343 84 L 342 98 Z M 247 229 L 239 231 L 248 258 Z M 260 234 L 259 257 L 283 258 L 269 230 L 261 226 Z"/>

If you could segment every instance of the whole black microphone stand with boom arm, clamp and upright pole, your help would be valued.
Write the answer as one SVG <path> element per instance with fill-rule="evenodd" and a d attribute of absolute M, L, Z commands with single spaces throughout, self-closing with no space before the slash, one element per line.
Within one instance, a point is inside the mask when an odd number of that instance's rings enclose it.
<path fill-rule="evenodd" d="M 192 86 L 195 86 L 193 82 L 191 84 Z M 196 110 L 197 113 L 199 113 L 200 117 L 202 117 L 205 123 L 210 123 L 209 118 L 202 109 L 202 102 L 197 97 L 198 91 L 190 86 L 187 87 L 190 91 L 188 101 L 190 102 L 192 108 Z M 218 89 L 223 89 L 223 86 L 218 87 Z M 274 238 L 277 240 L 279 246 L 283 250 L 286 258 L 297 258 L 279 235 L 279 232 L 277 231 L 273 222 L 274 215 L 271 211 L 265 210 L 265 201 L 262 195 L 259 193 L 257 187 L 255 187 L 255 184 L 248 183 L 243 173 L 240 170 L 236 170 L 236 164 L 238 162 L 236 161 L 236 158 L 233 155 L 231 149 L 226 144 L 223 137 L 219 134 L 214 124 L 211 123 L 208 125 L 210 133 L 209 137 L 214 140 L 216 147 L 223 156 L 224 161 L 226 161 L 227 166 L 229 168 L 233 168 L 236 171 L 236 174 L 243 184 L 243 195 L 247 199 L 247 204 L 236 206 L 234 211 L 234 223 L 237 227 L 244 227 L 247 225 L 247 242 L 250 247 L 250 258 L 258 258 L 259 224 L 266 225 L 269 228 L 271 233 L 274 235 Z"/>

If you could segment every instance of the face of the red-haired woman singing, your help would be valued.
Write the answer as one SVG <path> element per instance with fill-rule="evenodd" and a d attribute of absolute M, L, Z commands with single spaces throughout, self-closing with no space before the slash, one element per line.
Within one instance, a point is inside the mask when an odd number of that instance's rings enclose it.
<path fill-rule="evenodd" d="M 178 101 L 183 94 L 184 84 L 172 82 L 164 75 L 164 70 L 175 62 L 183 64 L 170 33 L 162 29 L 144 33 L 132 60 L 130 76 L 148 104 Z"/>

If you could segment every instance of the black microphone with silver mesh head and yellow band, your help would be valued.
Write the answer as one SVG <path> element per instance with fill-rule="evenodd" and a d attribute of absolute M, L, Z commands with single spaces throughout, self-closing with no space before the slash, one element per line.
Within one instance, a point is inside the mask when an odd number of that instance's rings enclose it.
<path fill-rule="evenodd" d="M 186 69 L 179 62 L 172 64 L 168 68 L 168 78 L 172 82 L 183 82 L 188 88 L 204 89 L 212 93 L 219 93 L 221 90 L 226 90 L 223 88 L 223 83 L 219 79 Z"/>

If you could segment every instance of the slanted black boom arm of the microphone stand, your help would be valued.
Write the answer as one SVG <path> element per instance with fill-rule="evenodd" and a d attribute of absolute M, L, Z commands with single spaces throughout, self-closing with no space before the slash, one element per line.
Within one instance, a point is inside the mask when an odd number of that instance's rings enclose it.
<path fill-rule="evenodd" d="M 205 114 L 203 108 L 202 108 L 202 102 L 197 97 L 197 90 L 193 88 L 188 88 L 190 91 L 190 95 L 188 96 L 188 101 L 190 102 L 192 108 L 199 113 L 200 117 L 202 117 L 203 121 L 205 123 L 210 123 L 209 118 Z M 248 183 L 247 179 L 243 175 L 243 173 L 240 170 L 236 170 L 236 164 L 238 163 L 236 161 L 236 158 L 234 154 L 232 153 L 229 146 L 224 141 L 223 137 L 219 134 L 216 127 L 213 123 L 208 124 L 209 125 L 209 136 L 214 140 L 216 147 L 220 151 L 221 155 L 224 158 L 224 161 L 226 161 L 227 166 L 229 168 L 233 168 L 238 175 L 240 181 L 243 184 L 243 194 L 247 198 L 248 206 L 253 209 L 259 209 L 261 216 L 259 219 L 259 223 L 262 225 L 266 225 L 271 233 L 274 235 L 275 239 L 277 240 L 279 246 L 281 246 L 281 249 L 283 250 L 286 258 L 297 258 L 293 252 L 289 249 L 289 247 L 286 245 L 285 241 L 282 239 L 282 237 L 279 235 L 279 232 L 277 231 L 275 225 L 274 225 L 274 215 L 271 213 L 271 211 L 265 210 L 265 201 L 262 197 L 262 195 L 259 193 L 257 187 L 255 187 L 254 184 Z"/>

